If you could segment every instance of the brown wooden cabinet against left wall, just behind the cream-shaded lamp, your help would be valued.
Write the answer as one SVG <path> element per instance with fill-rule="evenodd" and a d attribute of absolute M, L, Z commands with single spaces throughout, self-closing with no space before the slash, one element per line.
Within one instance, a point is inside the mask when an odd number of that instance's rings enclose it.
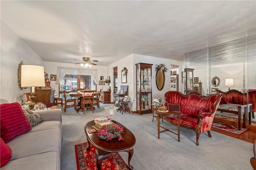
<path fill-rule="evenodd" d="M 45 105 L 52 103 L 54 105 L 55 89 L 35 89 L 36 103 L 42 102 Z"/>

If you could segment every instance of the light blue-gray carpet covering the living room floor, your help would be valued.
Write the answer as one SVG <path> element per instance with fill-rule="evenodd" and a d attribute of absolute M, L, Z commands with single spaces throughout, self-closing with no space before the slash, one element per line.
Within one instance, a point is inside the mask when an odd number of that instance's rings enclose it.
<path fill-rule="evenodd" d="M 95 117 L 106 116 L 100 104 L 94 113 L 81 111 L 76 113 L 73 108 L 62 112 L 62 170 L 76 170 L 74 145 L 86 141 L 84 126 Z M 199 146 L 196 146 L 196 133 L 181 128 L 180 142 L 177 135 L 163 132 L 158 139 L 157 121 L 152 122 L 152 114 L 116 113 L 113 120 L 120 122 L 131 130 L 136 137 L 134 155 L 131 165 L 134 170 L 252 170 L 250 158 L 253 156 L 253 144 L 218 132 L 211 131 L 200 134 Z M 162 126 L 177 130 L 177 127 L 164 121 Z M 124 161 L 128 162 L 128 153 L 120 152 Z"/>

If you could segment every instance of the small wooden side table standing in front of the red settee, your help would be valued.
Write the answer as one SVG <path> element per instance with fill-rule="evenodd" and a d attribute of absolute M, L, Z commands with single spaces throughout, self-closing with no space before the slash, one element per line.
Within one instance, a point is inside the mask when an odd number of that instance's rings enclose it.
<path fill-rule="evenodd" d="M 161 132 L 168 131 L 168 132 L 178 135 L 178 142 L 180 142 L 180 112 L 174 112 L 174 111 L 160 112 L 157 110 L 157 108 L 155 108 L 154 113 L 157 114 L 158 139 L 160 138 Z M 173 132 L 172 130 L 169 130 L 168 128 L 160 126 L 160 118 L 162 118 L 172 124 L 172 122 L 170 120 L 166 119 L 166 117 L 177 117 L 177 119 L 178 119 L 178 123 L 177 123 L 178 134 Z M 160 127 L 163 128 L 164 130 L 160 131 Z"/>

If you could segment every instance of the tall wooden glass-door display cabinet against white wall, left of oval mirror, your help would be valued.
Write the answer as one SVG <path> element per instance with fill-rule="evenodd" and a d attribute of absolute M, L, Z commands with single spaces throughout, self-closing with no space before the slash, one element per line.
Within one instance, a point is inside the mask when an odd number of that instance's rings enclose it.
<path fill-rule="evenodd" d="M 146 63 L 136 64 L 136 113 L 152 113 L 152 65 Z"/>

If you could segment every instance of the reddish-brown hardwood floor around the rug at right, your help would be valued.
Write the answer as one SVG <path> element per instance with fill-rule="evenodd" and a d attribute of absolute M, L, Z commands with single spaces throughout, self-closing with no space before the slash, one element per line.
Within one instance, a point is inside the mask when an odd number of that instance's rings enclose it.
<path fill-rule="evenodd" d="M 216 118 L 214 118 L 214 121 L 218 121 L 218 122 L 222 122 L 222 123 L 227 123 L 229 125 L 238 126 L 238 122 L 234 123 L 234 122 L 231 122 L 231 121 L 227 121 L 227 120 L 223 120 L 223 119 L 216 119 Z M 225 135 L 234 137 L 234 138 L 238 138 L 238 139 L 250 142 L 250 143 L 254 143 L 254 141 L 256 140 L 256 126 L 252 126 L 252 125 L 247 125 L 246 124 L 246 128 L 248 128 L 249 130 L 247 130 L 246 132 L 244 132 L 244 133 L 242 133 L 240 135 L 229 133 L 229 132 L 225 132 L 223 130 L 218 130 L 216 128 L 211 128 L 211 130 L 215 131 L 215 132 L 219 132 L 221 134 L 225 134 Z"/>

